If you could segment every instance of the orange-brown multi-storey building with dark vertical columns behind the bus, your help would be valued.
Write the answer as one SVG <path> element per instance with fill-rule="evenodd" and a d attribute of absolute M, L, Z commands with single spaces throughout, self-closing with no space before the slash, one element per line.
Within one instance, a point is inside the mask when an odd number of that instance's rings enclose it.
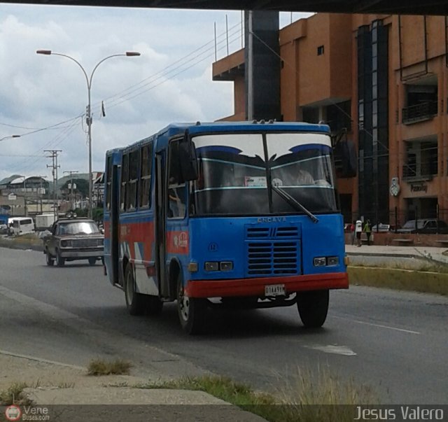
<path fill-rule="evenodd" d="M 328 13 L 278 31 L 281 119 L 324 120 L 356 144 L 358 175 L 338 179 L 346 222 L 448 221 L 447 34 L 443 16 Z M 234 81 L 223 120 L 247 118 L 245 57 L 213 65 Z"/>

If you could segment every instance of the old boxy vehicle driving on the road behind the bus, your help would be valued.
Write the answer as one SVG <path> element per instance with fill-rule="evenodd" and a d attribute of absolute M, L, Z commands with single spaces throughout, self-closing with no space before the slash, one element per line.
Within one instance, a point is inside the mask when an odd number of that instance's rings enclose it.
<path fill-rule="evenodd" d="M 58 267 L 74 260 L 88 260 L 95 265 L 97 260 L 103 260 L 104 234 L 94 220 L 59 218 L 43 238 L 43 253 L 50 266 L 55 260 Z"/>

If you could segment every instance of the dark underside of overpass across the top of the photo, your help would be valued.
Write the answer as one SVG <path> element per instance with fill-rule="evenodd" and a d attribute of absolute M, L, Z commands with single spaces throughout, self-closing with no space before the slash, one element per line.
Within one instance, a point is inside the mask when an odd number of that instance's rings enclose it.
<path fill-rule="evenodd" d="M 3 0 L 2 2 L 64 6 L 448 15 L 446 0 Z"/>

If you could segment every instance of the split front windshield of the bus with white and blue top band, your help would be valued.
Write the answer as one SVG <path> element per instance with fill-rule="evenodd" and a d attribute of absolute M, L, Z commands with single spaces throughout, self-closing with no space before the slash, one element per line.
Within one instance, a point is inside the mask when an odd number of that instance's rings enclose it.
<path fill-rule="evenodd" d="M 337 212 L 327 135 L 214 134 L 194 141 L 200 169 L 194 183 L 198 215 L 304 213 L 278 190 L 311 213 Z"/>

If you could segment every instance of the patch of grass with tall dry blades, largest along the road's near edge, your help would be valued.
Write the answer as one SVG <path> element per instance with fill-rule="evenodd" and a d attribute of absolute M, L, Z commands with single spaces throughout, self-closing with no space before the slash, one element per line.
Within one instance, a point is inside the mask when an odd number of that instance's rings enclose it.
<path fill-rule="evenodd" d="M 379 400 L 371 388 L 342 381 L 325 368 L 298 370 L 293 381 L 275 394 L 258 393 L 228 377 L 185 377 L 139 388 L 174 388 L 205 391 L 216 398 L 257 414 L 269 422 L 353 421 L 353 405 L 372 405 Z M 328 406 L 351 405 L 351 406 Z"/>

